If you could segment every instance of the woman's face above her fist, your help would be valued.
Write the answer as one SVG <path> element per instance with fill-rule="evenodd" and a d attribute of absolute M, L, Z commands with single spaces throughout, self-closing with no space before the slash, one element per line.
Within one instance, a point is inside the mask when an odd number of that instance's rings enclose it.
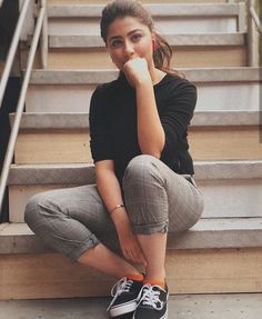
<path fill-rule="evenodd" d="M 113 63 L 123 71 L 127 61 L 144 58 L 153 67 L 154 33 L 137 18 L 117 18 L 108 29 L 107 48 Z"/>

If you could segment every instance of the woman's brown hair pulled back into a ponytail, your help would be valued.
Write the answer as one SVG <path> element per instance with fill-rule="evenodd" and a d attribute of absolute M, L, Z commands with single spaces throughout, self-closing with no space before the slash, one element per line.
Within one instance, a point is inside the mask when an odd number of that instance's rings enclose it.
<path fill-rule="evenodd" d="M 100 21 L 101 37 L 107 43 L 107 36 L 109 26 L 117 18 L 133 17 L 140 20 L 141 23 L 147 26 L 149 30 L 154 31 L 154 23 L 151 13 L 137 0 L 115 0 L 108 3 L 103 11 Z M 154 31 L 155 32 L 155 31 Z M 157 48 L 153 52 L 153 61 L 155 68 L 172 74 L 180 74 L 180 72 L 170 68 L 172 58 L 172 48 L 170 44 L 155 32 Z"/>

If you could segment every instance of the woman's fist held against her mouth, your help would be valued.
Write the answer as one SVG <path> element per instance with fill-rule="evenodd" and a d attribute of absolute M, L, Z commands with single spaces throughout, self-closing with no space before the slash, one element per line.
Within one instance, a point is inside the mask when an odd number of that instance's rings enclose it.
<path fill-rule="evenodd" d="M 148 68 L 148 62 L 144 58 L 134 58 L 125 62 L 123 66 L 124 74 L 128 81 L 137 87 L 140 83 L 152 83 L 151 76 Z"/>

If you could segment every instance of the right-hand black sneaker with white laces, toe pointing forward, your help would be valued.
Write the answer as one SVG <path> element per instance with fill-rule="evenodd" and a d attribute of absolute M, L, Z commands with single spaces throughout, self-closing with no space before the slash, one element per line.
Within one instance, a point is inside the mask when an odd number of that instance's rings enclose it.
<path fill-rule="evenodd" d="M 168 319 L 168 287 L 144 285 L 139 293 L 139 303 L 133 319 Z"/>

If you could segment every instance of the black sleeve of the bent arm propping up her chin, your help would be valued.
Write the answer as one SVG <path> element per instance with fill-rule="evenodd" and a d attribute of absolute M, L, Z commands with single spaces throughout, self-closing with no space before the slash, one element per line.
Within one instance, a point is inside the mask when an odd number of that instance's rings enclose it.
<path fill-rule="evenodd" d="M 161 159 L 172 158 L 178 152 L 178 146 L 187 138 L 188 126 L 193 117 L 196 103 L 196 88 L 187 80 L 170 88 L 165 107 L 160 120 L 165 133 L 165 143 Z"/>

